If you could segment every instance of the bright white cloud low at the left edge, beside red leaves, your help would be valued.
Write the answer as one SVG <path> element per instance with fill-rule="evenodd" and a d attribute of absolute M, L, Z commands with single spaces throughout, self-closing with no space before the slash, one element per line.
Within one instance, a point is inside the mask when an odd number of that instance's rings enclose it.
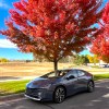
<path fill-rule="evenodd" d="M 0 48 L 17 48 L 15 44 L 8 39 L 0 39 Z"/>

